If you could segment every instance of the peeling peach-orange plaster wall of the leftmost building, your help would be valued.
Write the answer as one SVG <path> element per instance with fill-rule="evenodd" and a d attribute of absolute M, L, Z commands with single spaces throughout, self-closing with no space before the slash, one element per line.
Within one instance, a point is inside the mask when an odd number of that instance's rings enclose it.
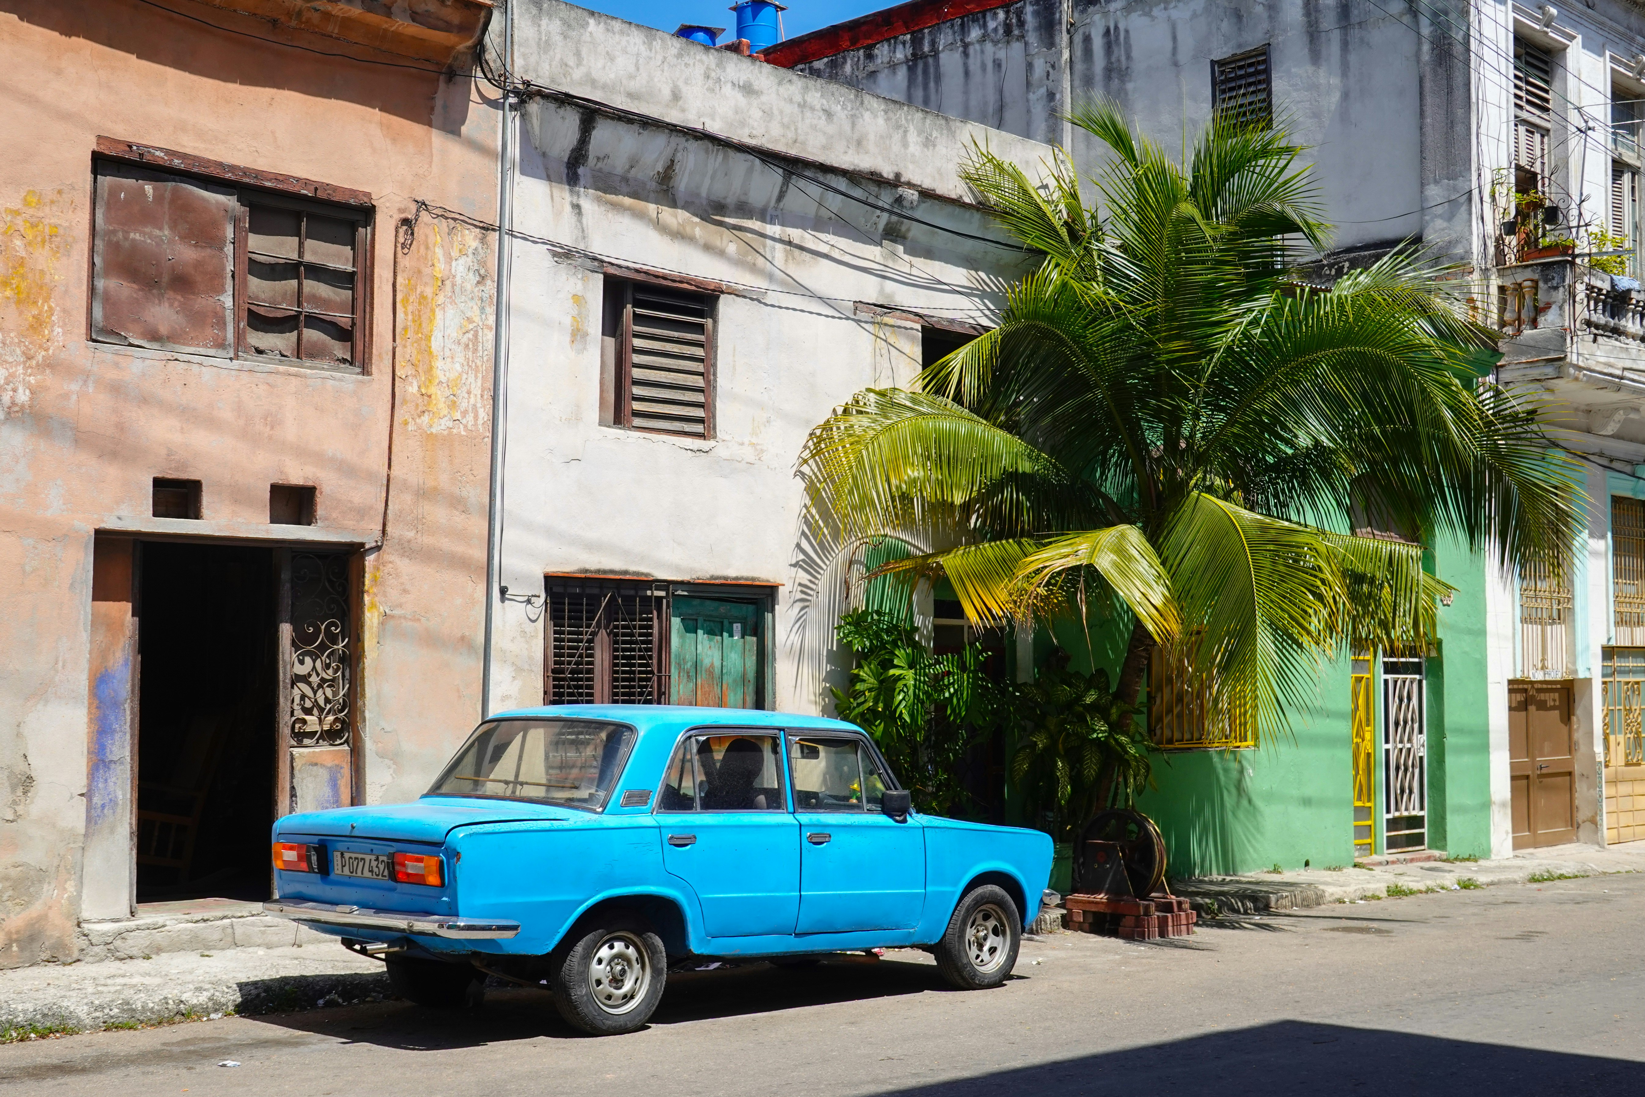
<path fill-rule="evenodd" d="M 130 826 L 130 745 L 97 738 L 130 704 L 130 618 L 94 600 L 95 531 L 273 543 L 268 485 L 314 484 L 317 525 L 280 539 L 367 546 L 372 794 L 419 791 L 477 715 L 492 240 L 424 220 L 400 252 L 395 224 L 415 197 L 494 219 L 495 113 L 466 77 L 373 62 L 405 58 L 209 21 L 227 30 L 135 0 L 0 3 L 8 133 L 26 150 L 0 161 L 0 965 L 71 959 L 82 895 L 128 913 L 117 867 L 87 886 L 81 863 L 89 826 Z M 89 342 L 99 135 L 368 191 L 367 372 Z M 401 360 L 396 329 L 423 332 Z M 204 520 L 151 518 L 155 475 L 202 480 Z"/>

